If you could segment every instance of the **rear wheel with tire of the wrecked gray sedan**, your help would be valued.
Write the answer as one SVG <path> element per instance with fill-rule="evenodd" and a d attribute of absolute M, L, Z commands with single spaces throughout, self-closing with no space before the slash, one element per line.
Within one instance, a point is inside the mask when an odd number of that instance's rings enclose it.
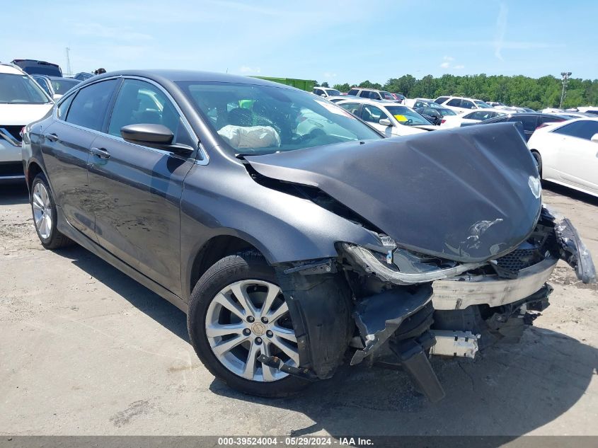
<path fill-rule="evenodd" d="M 35 231 L 46 249 L 58 249 L 71 246 L 74 242 L 57 229 L 58 214 L 52 190 L 46 177 L 39 173 L 31 183 L 31 212 Z"/>

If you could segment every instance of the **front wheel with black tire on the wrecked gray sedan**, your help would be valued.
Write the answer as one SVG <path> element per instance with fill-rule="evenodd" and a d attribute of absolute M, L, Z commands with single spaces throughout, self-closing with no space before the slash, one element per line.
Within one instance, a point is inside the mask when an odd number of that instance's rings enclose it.
<path fill-rule="evenodd" d="M 263 353 L 299 365 L 287 303 L 274 270 L 255 251 L 222 258 L 202 275 L 191 294 L 187 325 L 197 356 L 233 389 L 283 397 L 309 385 L 257 360 Z"/>

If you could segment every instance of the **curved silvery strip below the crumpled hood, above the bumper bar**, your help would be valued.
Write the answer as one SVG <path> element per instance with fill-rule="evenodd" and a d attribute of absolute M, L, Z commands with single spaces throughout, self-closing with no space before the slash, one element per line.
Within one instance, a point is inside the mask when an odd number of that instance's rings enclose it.
<path fill-rule="evenodd" d="M 395 285 L 415 285 L 418 283 L 432 282 L 447 277 L 461 275 L 468 270 L 479 268 L 487 263 L 462 263 L 450 268 L 438 268 L 429 272 L 400 272 L 393 270 L 390 265 L 385 265 L 376 255 L 367 248 L 350 243 L 341 243 L 343 251 L 351 258 L 354 263 L 360 265 L 365 272 L 377 275 L 386 282 Z"/>

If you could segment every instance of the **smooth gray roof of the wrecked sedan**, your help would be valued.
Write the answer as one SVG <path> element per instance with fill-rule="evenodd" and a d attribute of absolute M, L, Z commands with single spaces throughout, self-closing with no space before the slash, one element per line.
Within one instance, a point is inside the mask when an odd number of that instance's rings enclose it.
<path fill-rule="evenodd" d="M 107 71 L 106 73 L 93 76 L 93 78 L 86 79 L 81 84 L 91 84 L 88 81 L 96 82 L 100 79 L 111 78 L 113 76 L 140 76 L 142 78 L 151 79 L 161 83 L 163 81 L 180 82 L 180 81 L 197 81 L 197 82 L 226 82 L 236 84 L 253 84 L 258 86 L 276 86 L 280 88 L 293 89 L 294 87 L 286 86 L 284 84 L 273 81 L 266 81 L 265 79 L 253 78 L 251 76 L 241 76 L 225 73 L 216 73 L 212 71 L 196 71 L 196 70 L 172 70 L 172 69 L 144 69 L 144 70 L 119 70 Z"/>

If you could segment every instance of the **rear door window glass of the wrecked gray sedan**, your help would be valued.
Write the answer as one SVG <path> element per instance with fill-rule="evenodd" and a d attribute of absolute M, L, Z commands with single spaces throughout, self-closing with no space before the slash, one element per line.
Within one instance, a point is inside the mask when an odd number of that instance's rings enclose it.
<path fill-rule="evenodd" d="M 116 84 L 116 79 L 109 79 L 81 88 L 71 103 L 67 122 L 96 131 L 102 130 L 106 109 Z"/>

